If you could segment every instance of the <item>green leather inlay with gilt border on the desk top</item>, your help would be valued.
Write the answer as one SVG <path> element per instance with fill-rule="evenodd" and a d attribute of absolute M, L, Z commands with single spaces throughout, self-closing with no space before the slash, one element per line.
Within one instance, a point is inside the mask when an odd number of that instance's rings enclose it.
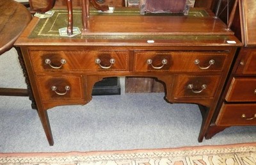
<path fill-rule="evenodd" d="M 29 35 L 29 38 L 68 38 L 68 36 L 60 36 L 59 29 L 67 27 L 68 17 L 67 10 L 65 9 L 53 9 L 54 15 L 50 18 L 40 19 L 36 24 L 35 28 Z M 140 15 L 138 8 L 131 8 L 127 10 L 126 8 L 115 8 L 114 13 L 99 13 L 94 8 L 90 10 L 90 15 Z M 148 17 L 147 15 L 142 17 Z M 156 16 L 157 17 L 157 16 Z M 164 16 L 158 16 L 164 17 Z M 179 17 L 179 16 L 177 16 Z M 182 16 L 180 16 L 182 17 Z M 209 17 L 205 10 L 190 10 L 187 17 Z M 73 26 L 82 29 L 82 18 L 81 10 L 73 10 Z M 155 36 L 154 39 L 173 39 L 179 36 L 168 36 L 159 35 Z M 88 39 L 143 39 L 150 38 L 148 35 L 138 36 L 138 35 L 77 35 L 72 38 L 88 38 Z"/>

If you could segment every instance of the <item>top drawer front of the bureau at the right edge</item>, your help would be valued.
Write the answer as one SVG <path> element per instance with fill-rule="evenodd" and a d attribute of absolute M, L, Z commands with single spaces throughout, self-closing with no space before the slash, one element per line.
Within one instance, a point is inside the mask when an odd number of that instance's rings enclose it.
<path fill-rule="evenodd" d="M 237 67 L 237 74 L 256 75 L 256 48 L 243 48 L 239 52 L 241 57 Z"/>

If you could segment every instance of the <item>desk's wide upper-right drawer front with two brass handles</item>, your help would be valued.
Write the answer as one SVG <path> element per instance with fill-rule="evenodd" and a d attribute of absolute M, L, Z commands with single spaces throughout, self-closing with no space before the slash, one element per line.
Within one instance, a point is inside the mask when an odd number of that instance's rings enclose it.
<path fill-rule="evenodd" d="M 209 72 L 223 70 L 227 54 L 224 52 L 136 51 L 134 70 Z"/>

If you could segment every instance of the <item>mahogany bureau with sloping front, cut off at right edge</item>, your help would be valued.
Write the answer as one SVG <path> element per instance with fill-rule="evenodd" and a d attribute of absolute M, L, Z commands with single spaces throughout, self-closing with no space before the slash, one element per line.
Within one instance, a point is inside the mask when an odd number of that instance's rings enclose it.
<path fill-rule="evenodd" d="M 244 44 L 221 95 L 206 137 L 227 127 L 256 125 L 256 1 L 239 1 L 232 29 Z"/>

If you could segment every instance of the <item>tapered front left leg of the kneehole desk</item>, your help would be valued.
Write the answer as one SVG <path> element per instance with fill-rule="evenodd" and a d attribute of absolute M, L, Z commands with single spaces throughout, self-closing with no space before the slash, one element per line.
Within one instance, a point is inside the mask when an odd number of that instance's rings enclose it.
<path fill-rule="evenodd" d="M 53 141 L 53 138 L 52 138 L 52 130 L 51 130 L 51 125 L 49 123 L 49 118 L 48 118 L 47 111 L 38 109 L 37 112 L 38 112 L 38 116 L 39 116 L 39 118 L 42 122 L 42 125 L 44 127 L 44 132 L 45 132 L 45 135 L 47 137 L 48 143 L 49 143 L 50 146 L 53 146 L 54 141 Z"/>

